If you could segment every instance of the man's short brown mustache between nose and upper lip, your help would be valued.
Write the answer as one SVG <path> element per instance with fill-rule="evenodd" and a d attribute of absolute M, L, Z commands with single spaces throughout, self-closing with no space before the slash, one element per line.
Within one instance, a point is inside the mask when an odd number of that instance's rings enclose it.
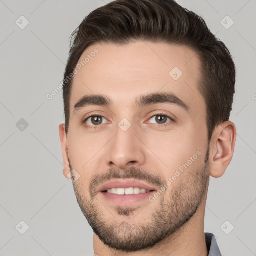
<path fill-rule="evenodd" d="M 105 174 L 97 174 L 93 176 L 90 183 L 90 187 L 89 187 L 91 198 L 93 198 L 94 195 L 97 193 L 97 187 L 100 184 L 106 181 L 109 181 L 111 179 L 127 179 L 127 178 L 142 180 L 147 182 L 148 184 L 156 185 L 157 187 L 161 187 L 165 183 L 165 181 L 159 175 L 148 173 L 142 168 L 130 167 L 125 170 L 111 168 Z"/>

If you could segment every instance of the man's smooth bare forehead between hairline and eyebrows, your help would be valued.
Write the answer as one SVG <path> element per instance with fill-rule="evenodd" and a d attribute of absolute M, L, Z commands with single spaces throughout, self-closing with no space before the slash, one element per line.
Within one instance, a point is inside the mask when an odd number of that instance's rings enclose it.
<path fill-rule="evenodd" d="M 139 95 L 171 92 L 187 105 L 205 108 L 198 91 L 199 58 L 187 46 L 148 41 L 96 43 L 81 55 L 73 78 L 70 113 L 84 95 L 104 94 L 129 106 Z"/>

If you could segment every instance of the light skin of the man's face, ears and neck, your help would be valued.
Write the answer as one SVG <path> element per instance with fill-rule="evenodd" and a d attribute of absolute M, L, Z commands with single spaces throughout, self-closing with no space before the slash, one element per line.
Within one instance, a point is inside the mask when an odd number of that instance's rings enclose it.
<path fill-rule="evenodd" d="M 79 173 L 73 183 L 78 203 L 89 219 L 98 214 L 96 223 L 105 223 L 102 233 L 104 228 L 113 226 L 115 240 L 131 241 L 135 236 L 132 230 L 141 231 L 141 225 L 150 230 L 159 211 L 161 230 L 168 235 L 143 250 L 125 251 L 110 248 L 94 233 L 94 253 L 99 256 L 170 255 L 170 252 L 172 256 L 207 255 L 204 212 L 209 176 L 224 174 L 233 155 L 236 130 L 231 121 L 223 122 L 215 128 L 208 143 L 206 105 L 198 90 L 198 57 L 186 46 L 135 41 L 121 46 L 96 43 L 84 51 L 80 60 L 95 48 L 98 54 L 74 76 L 68 136 L 64 124 L 59 125 L 63 174 L 70 178 L 70 164 Z M 173 67 L 183 73 L 178 80 L 169 75 Z M 174 93 L 189 110 L 173 103 L 136 106 L 136 97 L 157 92 Z M 74 105 L 82 96 L 93 94 L 108 96 L 112 104 L 89 105 L 74 112 Z M 159 113 L 174 121 L 167 119 L 168 125 L 157 125 L 155 115 Z M 88 128 L 82 123 L 88 114 L 103 116 L 103 123 Z M 123 118 L 131 124 L 125 132 L 118 126 Z M 87 124 L 92 126 L 89 121 Z M 205 162 L 207 149 L 209 157 Z M 91 181 L 98 180 L 100 185 L 103 179 L 97 175 L 106 177 L 110 171 L 137 178 L 145 173 L 166 182 L 198 151 L 200 156 L 154 202 L 143 200 L 132 207 L 117 207 L 97 191 L 97 185 L 91 194 Z M 189 213 L 193 214 L 189 219 L 182 217 Z M 160 234 L 156 229 L 151 233 L 152 239 Z"/>

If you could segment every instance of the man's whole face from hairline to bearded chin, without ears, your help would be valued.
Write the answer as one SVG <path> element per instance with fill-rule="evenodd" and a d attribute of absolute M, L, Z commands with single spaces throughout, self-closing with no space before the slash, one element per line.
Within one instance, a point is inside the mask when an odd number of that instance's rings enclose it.
<path fill-rule="evenodd" d="M 95 48 L 76 68 L 70 96 L 68 156 L 80 175 L 74 190 L 105 244 L 140 250 L 178 230 L 207 192 L 199 60 L 185 46 L 137 41 L 91 45 L 80 61 Z"/>

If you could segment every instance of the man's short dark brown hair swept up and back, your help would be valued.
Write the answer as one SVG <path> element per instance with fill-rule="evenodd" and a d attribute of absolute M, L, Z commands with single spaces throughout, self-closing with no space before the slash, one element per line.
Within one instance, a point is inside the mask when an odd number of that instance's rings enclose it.
<path fill-rule="evenodd" d="M 206 103 L 208 139 L 219 123 L 229 119 L 235 85 L 232 56 L 200 16 L 174 0 L 112 1 L 89 13 L 71 37 L 74 39 L 63 84 L 66 134 L 73 79 L 65 78 L 73 72 L 84 50 L 97 42 L 127 44 L 145 40 L 190 47 L 200 59 L 198 90 Z"/>

